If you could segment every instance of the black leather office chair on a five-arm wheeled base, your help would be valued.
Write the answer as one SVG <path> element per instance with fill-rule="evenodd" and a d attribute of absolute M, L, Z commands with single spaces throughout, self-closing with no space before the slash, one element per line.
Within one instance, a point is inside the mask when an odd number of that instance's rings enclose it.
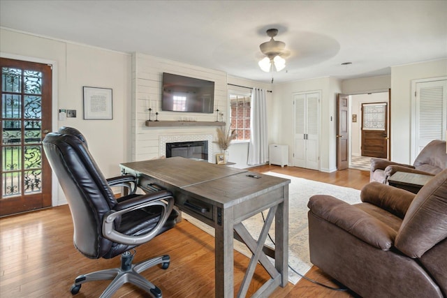
<path fill-rule="evenodd" d="M 122 255 L 121 268 L 80 275 L 75 278 L 71 293 L 77 294 L 87 281 L 113 279 L 101 297 L 112 296 L 124 283 L 133 283 L 153 297 L 161 297 L 161 290 L 140 272 L 154 265 L 167 269 L 169 255 L 133 265 L 133 248 L 175 226 L 178 213 L 173 209 L 173 195 L 169 191 L 156 191 L 115 199 L 101 170 L 78 137 L 48 133 L 43 148 L 71 210 L 75 248 L 93 259 Z"/>

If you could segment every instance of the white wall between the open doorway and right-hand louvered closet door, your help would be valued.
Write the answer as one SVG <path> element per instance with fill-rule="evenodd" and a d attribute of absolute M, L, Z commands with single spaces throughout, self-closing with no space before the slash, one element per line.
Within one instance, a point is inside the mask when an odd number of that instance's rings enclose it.
<path fill-rule="evenodd" d="M 391 68 L 391 160 L 411 163 L 411 81 L 447 75 L 447 59 Z"/>

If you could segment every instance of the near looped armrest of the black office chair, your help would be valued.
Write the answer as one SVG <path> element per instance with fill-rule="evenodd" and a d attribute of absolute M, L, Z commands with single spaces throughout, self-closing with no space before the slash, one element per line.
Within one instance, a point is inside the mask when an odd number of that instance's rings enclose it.
<path fill-rule="evenodd" d="M 146 234 L 138 236 L 130 236 L 115 230 L 114 221 L 120 218 L 123 214 L 142 209 L 150 206 L 160 206 L 163 212 L 160 216 L 160 221 L 155 228 Z M 157 191 L 148 193 L 146 195 L 139 195 L 138 197 L 119 202 L 114 210 L 109 211 L 103 218 L 103 236 L 111 241 L 115 241 L 126 245 L 140 245 L 159 234 L 161 228 L 168 220 L 168 217 L 173 211 L 174 197 L 169 191 Z"/>

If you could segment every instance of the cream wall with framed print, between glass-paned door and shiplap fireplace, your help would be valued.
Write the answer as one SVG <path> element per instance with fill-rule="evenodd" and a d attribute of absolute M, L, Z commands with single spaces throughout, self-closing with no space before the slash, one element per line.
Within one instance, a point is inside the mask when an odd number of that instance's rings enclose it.
<path fill-rule="evenodd" d="M 1 57 L 54 61 L 53 124 L 73 126 L 85 134 L 89 149 L 105 177 L 118 175 L 119 163 L 130 160 L 126 138 L 131 105 L 131 55 L 0 29 Z M 113 91 L 112 120 L 83 120 L 82 87 Z M 57 120 L 57 110 L 77 110 L 76 118 Z M 57 186 L 57 179 L 53 179 Z M 53 205 L 64 204 L 61 190 L 53 187 Z"/>

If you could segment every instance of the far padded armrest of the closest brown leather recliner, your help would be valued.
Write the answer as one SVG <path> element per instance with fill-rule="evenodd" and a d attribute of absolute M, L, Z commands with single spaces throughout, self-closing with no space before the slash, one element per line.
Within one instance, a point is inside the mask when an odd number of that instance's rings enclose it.
<path fill-rule="evenodd" d="M 362 202 L 374 204 L 400 218 L 404 218 L 414 197 L 414 193 L 379 182 L 365 185 L 360 192 Z"/>

